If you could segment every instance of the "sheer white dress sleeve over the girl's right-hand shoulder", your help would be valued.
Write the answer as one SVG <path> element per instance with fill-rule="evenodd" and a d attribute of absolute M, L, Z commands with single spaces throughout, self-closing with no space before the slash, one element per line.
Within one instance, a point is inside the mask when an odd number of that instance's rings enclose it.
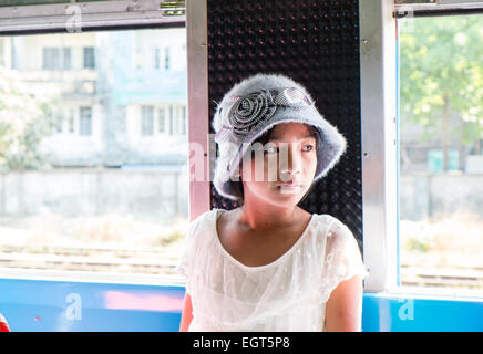
<path fill-rule="evenodd" d="M 356 238 L 349 228 L 335 219 L 327 232 L 322 272 L 322 298 L 329 300 L 337 285 L 354 275 L 369 275 Z"/>

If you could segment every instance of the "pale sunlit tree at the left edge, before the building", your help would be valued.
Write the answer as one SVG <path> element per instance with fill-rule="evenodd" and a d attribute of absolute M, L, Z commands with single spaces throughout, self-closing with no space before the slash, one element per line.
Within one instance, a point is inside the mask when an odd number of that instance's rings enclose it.
<path fill-rule="evenodd" d="M 50 167 L 49 156 L 40 146 L 60 124 L 59 105 L 55 95 L 38 87 L 0 66 L 1 171 Z"/>

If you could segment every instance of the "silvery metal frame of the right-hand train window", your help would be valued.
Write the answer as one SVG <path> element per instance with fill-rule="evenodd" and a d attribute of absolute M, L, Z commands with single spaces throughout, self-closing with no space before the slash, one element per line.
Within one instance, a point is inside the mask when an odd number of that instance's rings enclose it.
<path fill-rule="evenodd" d="M 455 291 L 400 284 L 397 18 L 483 12 L 483 1 L 448 0 L 445 4 L 411 2 L 364 0 L 359 6 L 362 233 L 363 259 L 370 272 L 364 281 L 364 291 L 438 296 Z"/>

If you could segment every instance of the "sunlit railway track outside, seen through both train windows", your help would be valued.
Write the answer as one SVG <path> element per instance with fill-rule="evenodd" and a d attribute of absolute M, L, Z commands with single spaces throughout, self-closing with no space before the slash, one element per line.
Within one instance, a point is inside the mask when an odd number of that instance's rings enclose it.
<path fill-rule="evenodd" d="M 178 258 L 166 248 L 0 244 L 0 268 L 175 275 L 177 261 Z M 401 284 L 483 289 L 483 268 L 440 270 L 402 264 Z"/>

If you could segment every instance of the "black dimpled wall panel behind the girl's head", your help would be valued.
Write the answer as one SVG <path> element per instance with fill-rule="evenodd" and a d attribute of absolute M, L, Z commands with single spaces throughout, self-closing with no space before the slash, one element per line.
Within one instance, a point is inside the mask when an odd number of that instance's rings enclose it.
<path fill-rule="evenodd" d="M 360 242 L 359 1 L 208 0 L 210 117 L 214 102 L 258 72 L 300 82 L 347 138 L 347 153 L 300 206 L 337 217 Z M 238 204 L 218 196 L 212 184 L 213 207 L 233 209 Z"/>

